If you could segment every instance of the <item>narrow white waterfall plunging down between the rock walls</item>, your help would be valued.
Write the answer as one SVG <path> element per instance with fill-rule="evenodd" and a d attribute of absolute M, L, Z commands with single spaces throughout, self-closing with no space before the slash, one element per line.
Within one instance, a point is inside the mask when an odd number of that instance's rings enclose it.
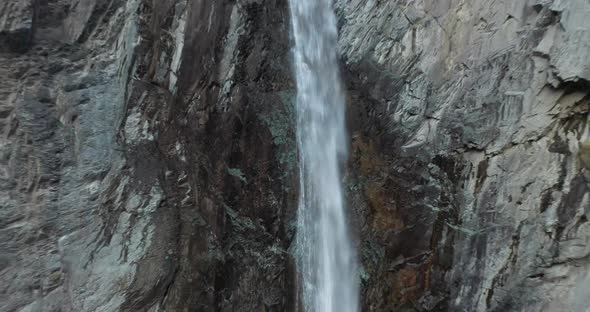
<path fill-rule="evenodd" d="M 345 100 L 332 0 L 290 0 L 297 78 L 297 265 L 306 312 L 358 310 L 357 259 L 343 202 Z"/>

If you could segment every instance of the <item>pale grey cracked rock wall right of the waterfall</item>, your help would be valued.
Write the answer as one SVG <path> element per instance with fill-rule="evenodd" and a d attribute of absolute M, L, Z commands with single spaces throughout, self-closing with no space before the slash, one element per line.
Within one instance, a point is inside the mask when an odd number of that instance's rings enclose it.
<path fill-rule="evenodd" d="M 375 311 L 584 311 L 586 1 L 338 1 Z"/>

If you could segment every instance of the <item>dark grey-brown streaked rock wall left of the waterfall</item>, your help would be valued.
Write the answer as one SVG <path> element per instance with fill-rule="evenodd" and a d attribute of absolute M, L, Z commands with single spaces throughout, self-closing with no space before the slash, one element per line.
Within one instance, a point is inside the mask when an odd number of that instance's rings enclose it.
<path fill-rule="evenodd" d="M 294 309 L 284 1 L 35 4 L 0 11 L 0 310 Z"/>

